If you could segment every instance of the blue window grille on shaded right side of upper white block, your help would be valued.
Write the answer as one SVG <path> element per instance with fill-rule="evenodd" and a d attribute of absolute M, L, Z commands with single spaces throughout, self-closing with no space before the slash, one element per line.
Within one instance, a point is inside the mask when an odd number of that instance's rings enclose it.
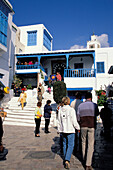
<path fill-rule="evenodd" d="M 51 40 L 52 38 L 48 34 L 48 32 L 44 29 L 44 35 L 43 35 L 43 45 L 51 51 Z"/>

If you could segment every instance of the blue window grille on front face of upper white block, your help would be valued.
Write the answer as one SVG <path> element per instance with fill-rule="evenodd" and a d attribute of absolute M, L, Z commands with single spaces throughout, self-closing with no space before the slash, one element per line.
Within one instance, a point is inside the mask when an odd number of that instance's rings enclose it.
<path fill-rule="evenodd" d="M 27 45 L 28 46 L 37 45 L 37 31 L 28 31 L 27 35 L 28 35 Z"/>

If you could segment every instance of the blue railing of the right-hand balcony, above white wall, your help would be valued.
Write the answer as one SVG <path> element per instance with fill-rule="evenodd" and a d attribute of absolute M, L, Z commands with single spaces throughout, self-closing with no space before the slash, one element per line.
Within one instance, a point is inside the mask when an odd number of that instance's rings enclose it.
<path fill-rule="evenodd" d="M 95 77 L 96 69 L 65 69 L 64 77 Z"/>

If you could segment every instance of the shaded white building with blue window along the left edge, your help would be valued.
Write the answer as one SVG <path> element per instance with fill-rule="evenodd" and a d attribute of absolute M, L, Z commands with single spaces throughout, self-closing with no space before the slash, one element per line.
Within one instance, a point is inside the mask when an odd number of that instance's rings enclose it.
<path fill-rule="evenodd" d="M 12 22 L 13 7 L 8 0 L 0 0 L 0 81 L 11 87 L 14 75 L 16 29 Z"/>

